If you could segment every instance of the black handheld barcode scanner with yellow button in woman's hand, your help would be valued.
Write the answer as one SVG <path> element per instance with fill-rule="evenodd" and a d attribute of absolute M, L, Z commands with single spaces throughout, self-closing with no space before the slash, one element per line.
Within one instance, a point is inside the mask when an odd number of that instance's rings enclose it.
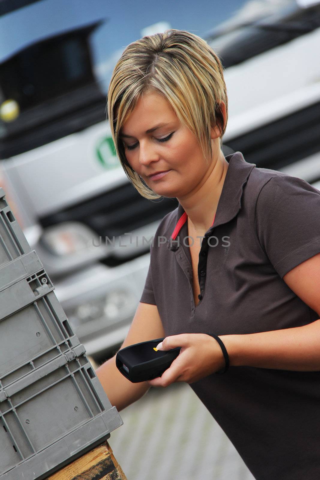
<path fill-rule="evenodd" d="M 161 377 L 173 360 L 178 357 L 181 349 L 181 347 L 177 347 L 166 351 L 156 350 L 155 347 L 164 338 L 156 338 L 121 348 L 116 355 L 116 365 L 122 375 L 134 384 Z"/>

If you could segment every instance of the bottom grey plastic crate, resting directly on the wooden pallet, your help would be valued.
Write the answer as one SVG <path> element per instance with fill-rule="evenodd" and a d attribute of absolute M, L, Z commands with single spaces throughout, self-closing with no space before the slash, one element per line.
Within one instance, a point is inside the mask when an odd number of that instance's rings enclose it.
<path fill-rule="evenodd" d="M 83 345 L 0 390 L 0 478 L 44 479 L 123 424 Z"/>

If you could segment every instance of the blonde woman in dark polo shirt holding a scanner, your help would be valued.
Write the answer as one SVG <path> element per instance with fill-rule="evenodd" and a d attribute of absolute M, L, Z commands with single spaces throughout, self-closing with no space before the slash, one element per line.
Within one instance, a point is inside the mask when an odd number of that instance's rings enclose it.
<path fill-rule="evenodd" d="M 157 228 L 122 348 L 165 337 L 159 348 L 181 350 L 127 396 L 114 358 L 97 374 L 118 409 L 187 382 L 256 479 L 319 479 L 320 193 L 225 157 L 227 106 L 220 60 L 187 31 L 131 43 L 114 69 L 121 165 L 145 198 L 179 202 Z"/>

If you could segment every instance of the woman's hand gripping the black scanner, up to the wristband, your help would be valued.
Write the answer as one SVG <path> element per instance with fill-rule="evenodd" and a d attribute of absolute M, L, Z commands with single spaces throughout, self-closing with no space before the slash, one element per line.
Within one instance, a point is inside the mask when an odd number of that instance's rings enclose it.
<path fill-rule="evenodd" d="M 167 387 L 174 382 L 192 384 L 224 368 L 225 358 L 218 342 L 210 335 L 183 333 L 166 336 L 159 350 L 181 347 L 178 357 L 161 377 L 147 380 L 154 387 Z M 159 344 L 161 347 L 161 344 Z"/>

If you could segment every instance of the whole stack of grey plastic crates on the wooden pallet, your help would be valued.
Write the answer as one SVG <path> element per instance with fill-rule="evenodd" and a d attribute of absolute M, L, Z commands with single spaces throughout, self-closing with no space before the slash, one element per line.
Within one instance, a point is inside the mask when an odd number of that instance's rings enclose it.
<path fill-rule="evenodd" d="M 0 478 L 41 480 L 123 424 L 0 188 Z"/>

